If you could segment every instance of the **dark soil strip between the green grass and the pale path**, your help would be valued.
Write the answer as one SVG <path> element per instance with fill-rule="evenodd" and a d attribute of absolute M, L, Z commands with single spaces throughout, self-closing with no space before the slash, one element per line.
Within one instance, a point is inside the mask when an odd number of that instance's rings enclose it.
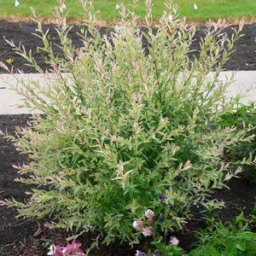
<path fill-rule="evenodd" d="M 233 32 L 232 27 L 236 26 L 227 27 L 224 32 L 228 32 L 228 34 L 231 35 Z M 61 54 L 61 50 L 55 45 L 59 44 L 55 26 L 53 24 L 45 24 L 43 28 L 44 31 L 49 29 L 49 44 L 52 45 L 54 52 L 56 54 Z M 73 29 L 69 32 L 69 38 L 73 40 L 75 49 L 82 46 L 81 38 L 77 34 L 80 32 L 80 28 L 81 27 L 79 26 L 73 26 Z M 35 73 L 34 68 L 26 66 L 26 60 L 20 55 L 17 55 L 15 50 L 4 41 L 3 38 L 6 38 L 9 41 L 13 40 L 17 46 L 21 43 L 21 45 L 24 45 L 27 52 L 32 49 L 32 56 L 35 61 L 37 61 L 38 65 L 43 69 L 49 68 L 45 63 L 46 53 L 43 50 L 40 50 L 39 53 L 37 51 L 37 48 L 43 47 L 44 44 L 40 38 L 32 35 L 32 33 L 38 33 L 36 32 L 36 29 L 37 25 L 33 23 L 17 23 L 0 20 L 0 61 L 3 61 L 9 68 L 19 68 L 20 70 L 23 70 L 24 73 Z M 143 31 L 147 31 L 145 27 L 142 29 Z M 109 32 L 109 29 L 103 27 L 100 29 L 100 32 L 105 34 Z M 234 46 L 236 51 L 224 67 L 226 70 L 256 70 L 256 23 L 245 25 L 242 34 L 244 34 L 244 36 L 238 40 Z M 195 33 L 195 42 L 192 47 L 193 49 L 199 49 L 200 38 L 204 37 L 204 35 L 202 29 L 197 29 L 197 32 Z M 148 42 L 145 39 L 143 40 L 143 44 L 145 47 L 148 46 Z M 13 60 L 11 64 L 6 62 L 9 59 Z M 0 73 L 6 73 L 6 71 L 0 67 Z"/>

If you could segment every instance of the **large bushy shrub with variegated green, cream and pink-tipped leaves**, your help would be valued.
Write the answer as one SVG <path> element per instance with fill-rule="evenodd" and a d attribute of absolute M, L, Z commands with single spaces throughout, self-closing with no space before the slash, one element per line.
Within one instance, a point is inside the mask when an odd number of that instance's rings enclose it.
<path fill-rule="evenodd" d="M 166 1 L 155 29 L 151 1 L 146 1 L 147 33 L 137 28 L 135 12 L 121 4 L 119 24 L 103 37 L 92 4 L 83 7 L 88 30 L 81 32 L 79 49 L 68 38 L 64 10 L 56 9 L 63 57 L 52 51 L 33 10 L 50 72 L 9 42 L 44 74 L 45 84 L 21 80 L 15 88 L 25 96 L 23 106 L 43 113 L 11 137 L 32 159 L 16 166 L 26 174 L 20 182 L 38 187 L 26 202 L 5 203 L 18 207 L 20 216 L 51 218 L 52 228 L 77 234 L 100 230 L 107 243 L 181 230 L 192 205 L 207 203 L 212 188 L 223 188 L 241 172 L 241 167 L 230 171 L 224 148 L 251 139 L 245 130 L 234 133 L 236 128 L 220 125 L 230 103 L 239 100 L 225 96 L 230 81 L 218 81 L 218 73 L 242 22 L 231 38 L 223 32 L 224 20 L 209 22 L 201 52 L 191 61 L 195 27 L 178 19 L 172 1 Z M 143 234 L 134 222 L 146 223 L 148 209 L 154 226 L 148 224 Z"/>

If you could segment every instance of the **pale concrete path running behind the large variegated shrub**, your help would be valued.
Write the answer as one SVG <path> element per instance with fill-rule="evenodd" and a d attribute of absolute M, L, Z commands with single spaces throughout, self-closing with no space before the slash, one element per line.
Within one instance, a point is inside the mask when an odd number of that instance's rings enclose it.
<path fill-rule="evenodd" d="M 42 74 L 24 74 L 17 75 L 23 79 L 32 78 L 44 83 Z M 219 79 L 226 80 L 230 77 L 231 72 L 223 72 Z M 241 102 L 256 102 L 256 71 L 240 71 L 236 73 L 236 82 L 230 84 L 228 88 L 228 96 L 236 96 L 237 94 L 245 95 Z M 16 80 L 9 74 L 0 75 L 0 114 L 19 114 L 31 113 L 28 108 L 17 108 L 16 104 L 20 102 L 21 96 L 18 96 L 14 90 L 9 90 L 9 84 L 17 84 Z"/>

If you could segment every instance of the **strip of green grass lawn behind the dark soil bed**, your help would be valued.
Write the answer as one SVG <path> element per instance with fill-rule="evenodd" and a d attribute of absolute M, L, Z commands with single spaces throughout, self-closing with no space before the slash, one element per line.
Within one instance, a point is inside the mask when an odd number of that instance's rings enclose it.
<path fill-rule="evenodd" d="M 0 15 L 4 19 L 24 19 L 32 16 L 31 6 L 37 10 L 38 14 L 44 18 L 52 19 L 52 12 L 55 10 L 55 0 L 19 0 L 20 5 L 15 8 L 15 0 L 0 0 Z M 100 20 L 111 21 L 119 19 L 119 10 L 115 9 L 115 5 L 121 3 L 122 0 L 95 0 L 95 9 L 99 9 L 98 14 Z M 128 5 L 131 0 L 123 0 Z M 154 20 L 159 20 L 160 15 L 166 9 L 164 0 L 153 0 Z M 206 20 L 218 20 L 218 18 L 226 18 L 228 20 L 239 20 L 246 17 L 247 20 L 255 20 L 256 17 L 256 1 L 255 0 L 174 0 L 174 4 L 178 4 L 178 14 L 186 16 L 187 20 L 205 22 Z M 193 8 L 196 3 L 198 9 Z M 68 20 L 82 20 L 83 16 L 78 15 L 83 12 L 79 0 L 66 0 L 67 9 L 69 11 Z M 143 19 L 145 16 L 144 0 L 138 1 L 137 15 Z M 131 7 L 130 7 L 131 9 Z"/>

